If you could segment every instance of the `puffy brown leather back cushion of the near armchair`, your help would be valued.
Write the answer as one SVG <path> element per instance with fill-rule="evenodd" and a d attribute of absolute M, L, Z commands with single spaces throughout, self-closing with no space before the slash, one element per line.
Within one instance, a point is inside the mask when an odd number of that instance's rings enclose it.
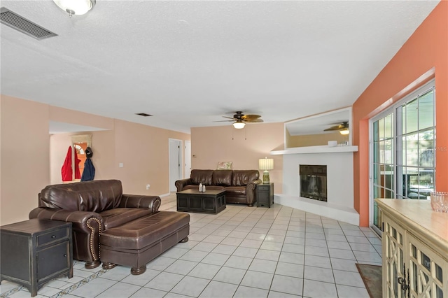
<path fill-rule="evenodd" d="M 41 191 L 39 207 L 99 213 L 118 208 L 122 194 L 120 180 L 48 185 Z"/>

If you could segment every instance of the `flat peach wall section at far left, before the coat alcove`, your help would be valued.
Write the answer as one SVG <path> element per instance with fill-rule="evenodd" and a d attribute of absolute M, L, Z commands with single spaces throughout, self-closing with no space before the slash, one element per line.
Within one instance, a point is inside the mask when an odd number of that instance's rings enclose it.
<path fill-rule="evenodd" d="M 1 95 L 1 225 L 28 219 L 50 183 L 48 105 Z"/>

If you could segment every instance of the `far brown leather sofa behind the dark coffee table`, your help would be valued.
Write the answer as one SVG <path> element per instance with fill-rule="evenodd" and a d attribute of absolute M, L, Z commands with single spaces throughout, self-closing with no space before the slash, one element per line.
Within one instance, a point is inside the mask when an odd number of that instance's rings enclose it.
<path fill-rule="evenodd" d="M 247 204 L 256 202 L 255 187 L 260 184 L 258 170 L 200 170 L 190 173 L 190 178 L 176 181 L 178 192 L 197 190 L 205 184 L 207 190 L 225 190 L 225 203 Z"/>

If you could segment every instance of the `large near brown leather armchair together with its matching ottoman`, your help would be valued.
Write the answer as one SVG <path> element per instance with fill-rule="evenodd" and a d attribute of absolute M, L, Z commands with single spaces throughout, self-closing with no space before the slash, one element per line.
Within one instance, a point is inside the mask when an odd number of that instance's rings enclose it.
<path fill-rule="evenodd" d="M 158 211 L 160 197 L 123 194 L 120 180 L 48 185 L 29 218 L 72 222 L 73 258 L 85 268 L 122 264 L 142 274 L 146 263 L 188 241 L 190 215 Z M 101 257 L 100 257 L 101 255 Z"/>

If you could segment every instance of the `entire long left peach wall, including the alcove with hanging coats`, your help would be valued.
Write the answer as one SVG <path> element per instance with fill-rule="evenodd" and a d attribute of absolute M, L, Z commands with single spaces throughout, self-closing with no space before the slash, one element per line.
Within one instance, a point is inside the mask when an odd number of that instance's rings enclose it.
<path fill-rule="evenodd" d="M 169 193 L 169 139 L 190 141 L 189 134 L 3 95 L 0 107 L 0 225 L 27 220 L 38 192 L 60 183 L 72 134 L 50 136 L 49 120 L 109 129 L 73 134 L 92 134 L 95 179 L 120 179 L 123 191 L 131 194 Z"/>

